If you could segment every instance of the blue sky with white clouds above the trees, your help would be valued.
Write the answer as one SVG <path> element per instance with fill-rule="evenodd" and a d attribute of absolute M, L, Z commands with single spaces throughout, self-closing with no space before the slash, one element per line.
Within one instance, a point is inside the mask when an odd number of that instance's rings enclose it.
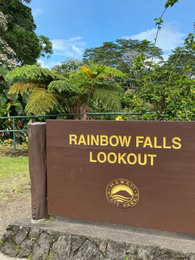
<path fill-rule="evenodd" d="M 166 0 L 33 0 L 37 34 L 53 43 L 51 59 L 41 58 L 43 67 L 53 67 L 66 57 L 82 59 L 86 48 L 117 38 L 154 41 L 155 17 L 161 16 Z M 182 45 L 193 31 L 195 0 L 179 0 L 163 16 L 157 46 L 167 59 L 171 49 Z"/>

